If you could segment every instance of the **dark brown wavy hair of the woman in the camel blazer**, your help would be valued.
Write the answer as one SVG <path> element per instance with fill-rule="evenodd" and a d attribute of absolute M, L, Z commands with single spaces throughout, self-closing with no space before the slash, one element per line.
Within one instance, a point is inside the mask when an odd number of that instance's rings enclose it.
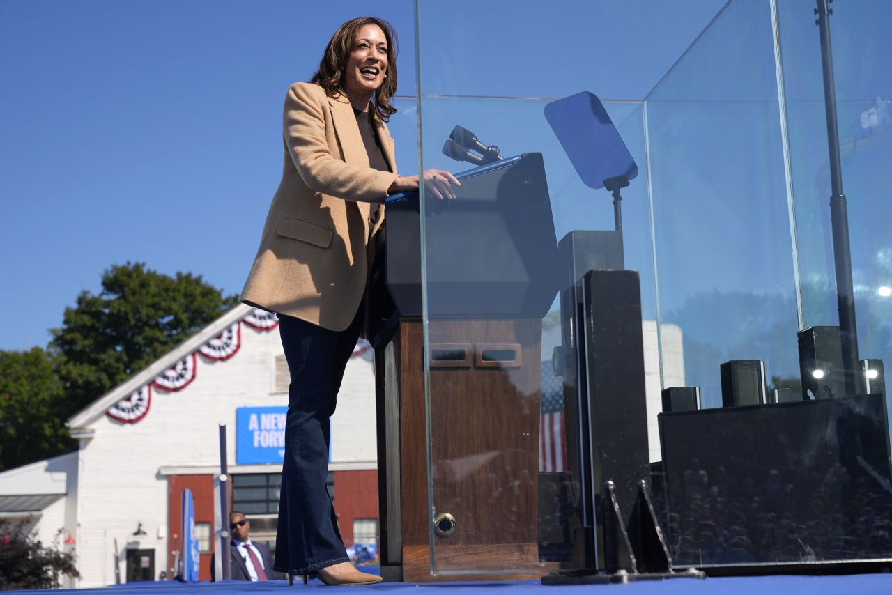
<path fill-rule="evenodd" d="M 343 73 L 346 70 L 347 59 L 353 50 L 353 42 L 357 33 L 366 25 L 380 27 L 387 40 L 387 71 L 384 73 L 387 77 L 381 83 L 381 87 L 378 87 L 372 102 L 375 106 L 372 112 L 377 118 L 386 122 L 390 119 L 391 114 L 396 112 L 396 108 L 390 103 L 391 97 L 396 94 L 396 31 L 389 22 L 376 17 L 359 17 L 341 25 L 328 41 L 326 51 L 322 54 L 322 60 L 319 61 L 319 70 L 316 71 L 310 82 L 324 88 L 326 95 L 330 97 L 346 95 L 342 84 Z"/>

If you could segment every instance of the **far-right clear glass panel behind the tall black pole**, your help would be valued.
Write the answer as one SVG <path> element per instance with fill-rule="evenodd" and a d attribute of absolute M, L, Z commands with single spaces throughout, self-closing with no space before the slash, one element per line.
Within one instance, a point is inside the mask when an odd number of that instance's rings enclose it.
<path fill-rule="evenodd" d="M 777 4 L 806 327 L 838 325 L 821 45 L 818 28 L 807 18 L 811 4 Z M 892 5 L 882 0 L 837 6 L 830 17 L 859 358 L 887 364 L 892 361 L 892 171 L 885 164 L 892 157 L 892 73 L 882 62 L 892 46 L 890 19 Z M 878 379 L 888 395 L 892 385 L 884 378 L 863 378 L 867 384 Z"/>

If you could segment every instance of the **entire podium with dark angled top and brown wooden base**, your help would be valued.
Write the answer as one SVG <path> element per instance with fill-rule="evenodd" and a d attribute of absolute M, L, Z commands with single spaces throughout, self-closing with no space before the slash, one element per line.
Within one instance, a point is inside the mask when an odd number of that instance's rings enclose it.
<path fill-rule="evenodd" d="M 373 306 L 387 581 L 539 562 L 541 319 L 559 283 L 541 154 L 458 179 L 454 201 L 425 204 L 427 362 L 417 194 L 388 202 L 373 272 L 387 288 Z"/>

